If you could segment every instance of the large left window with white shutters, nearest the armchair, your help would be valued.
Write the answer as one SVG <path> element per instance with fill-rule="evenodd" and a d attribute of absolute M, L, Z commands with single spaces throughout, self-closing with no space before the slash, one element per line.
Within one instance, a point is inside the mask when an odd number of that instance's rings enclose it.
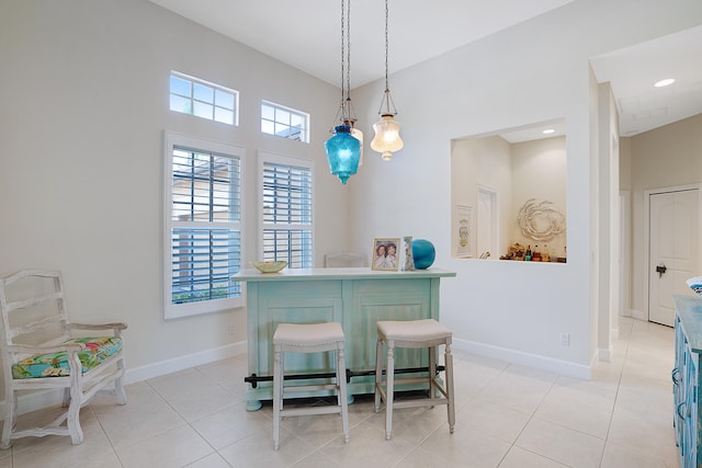
<path fill-rule="evenodd" d="M 168 133 L 165 163 L 166 318 L 244 306 L 242 148 Z"/>

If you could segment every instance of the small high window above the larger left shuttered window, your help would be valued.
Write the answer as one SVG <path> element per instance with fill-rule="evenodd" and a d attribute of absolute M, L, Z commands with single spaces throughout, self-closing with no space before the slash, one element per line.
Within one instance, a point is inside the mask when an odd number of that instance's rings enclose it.
<path fill-rule="evenodd" d="M 171 71 L 170 109 L 208 121 L 239 125 L 237 91 L 178 71 Z"/>

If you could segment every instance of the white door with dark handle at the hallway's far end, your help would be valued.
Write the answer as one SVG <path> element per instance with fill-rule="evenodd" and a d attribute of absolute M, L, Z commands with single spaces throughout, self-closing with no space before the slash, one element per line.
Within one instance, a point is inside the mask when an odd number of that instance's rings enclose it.
<path fill-rule="evenodd" d="M 649 195 L 648 320 L 672 327 L 673 294 L 693 294 L 699 275 L 698 190 Z"/>

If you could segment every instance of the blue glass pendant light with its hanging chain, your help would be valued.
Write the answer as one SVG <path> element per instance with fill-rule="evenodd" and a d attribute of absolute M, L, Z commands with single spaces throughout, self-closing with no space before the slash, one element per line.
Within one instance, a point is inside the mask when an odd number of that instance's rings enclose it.
<path fill-rule="evenodd" d="M 340 123 L 333 128 L 333 136 L 325 141 L 325 150 L 327 151 L 327 161 L 329 161 L 329 171 L 339 178 L 342 184 L 347 184 L 349 178 L 356 173 L 359 170 L 359 163 L 361 162 L 361 139 L 352 135 L 353 124 L 355 117 L 352 116 L 351 110 L 351 96 L 350 91 L 350 78 L 347 77 L 344 89 L 344 61 L 348 61 L 347 73 L 351 68 L 350 50 L 347 53 L 347 47 L 350 49 L 349 31 L 350 31 L 350 13 L 351 2 L 349 0 L 348 7 L 344 7 L 347 0 L 341 0 L 341 106 L 340 106 Z M 344 9 L 348 8 L 347 16 L 344 21 Z M 347 35 L 344 36 L 344 27 Z M 346 93 L 346 94 L 344 94 Z M 339 114 L 337 114 L 339 116 Z M 361 136 L 361 138 L 363 138 Z"/>

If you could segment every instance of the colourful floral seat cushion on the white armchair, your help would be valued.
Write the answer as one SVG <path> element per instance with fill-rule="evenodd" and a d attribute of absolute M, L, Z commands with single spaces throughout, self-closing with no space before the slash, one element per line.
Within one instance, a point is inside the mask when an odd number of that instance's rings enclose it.
<path fill-rule="evenodd" d="M 84 346 L 78 353 L 83 373 L 122 351 L 122 339 L 115 336 L 76 338 L 66 343 L 80 343 Z M 70 375 L 70 367 L 66 352 L 36 354 L 12 366 L 12 377 L 20 379 L 67 375 Z"/>

